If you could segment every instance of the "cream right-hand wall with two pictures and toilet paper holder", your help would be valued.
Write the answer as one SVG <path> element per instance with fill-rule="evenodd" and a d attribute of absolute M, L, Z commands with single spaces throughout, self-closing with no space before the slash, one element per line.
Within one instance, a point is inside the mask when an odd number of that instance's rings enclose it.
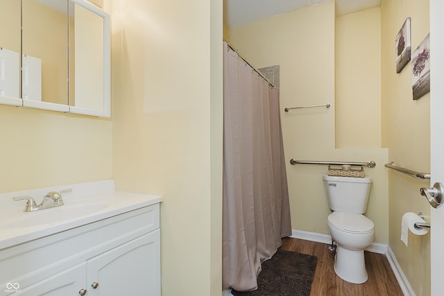
<path fill-rule="evenodd" d="M 415 171 L 430 171 L 429 94 L 413 101 L 411 62 L 395 71 L 395 36 L 406 17 L 411 17 L 411 51 L 429 33 L 429 1 L 383 0 L 382 21 L 382 143 L 389 160 Z M 409 236 L 409 247 L 400 241 L 402 215 L 421 211 L 429 216 L 429 204 L 418 191 L 428 181 L 390 171 L 390 247 L 416 295 L 430 295 L 430 236 Z M 428 220 L 426 218 L 426 220 Z"/>

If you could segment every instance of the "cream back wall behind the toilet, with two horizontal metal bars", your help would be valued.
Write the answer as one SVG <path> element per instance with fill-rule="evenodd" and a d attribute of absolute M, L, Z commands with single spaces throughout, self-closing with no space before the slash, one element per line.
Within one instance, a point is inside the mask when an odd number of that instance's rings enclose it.
<path fill-rule="evenodd" d="M 370 24 L 360 21 L 361 16 L 340 19 L 336 29 L 339 34 L 349 33 L 346 26 L 353 24 L 370 31 L 370 37 L 377 40 L 378 10 L 364 13 L 364 19 Z M 379 95 L 377 90 L 359 96 L 359 104 L 367 104 L 366 112 L 361 112 L 359 119 L 364 123 L 376 124 L 370 128 L 372 134 L 363 148 L 357 148 L 350 137 L 347 125 L 355 124 L 353 116 L 343 114 L 356 112 L 355 105 L 349 107 L 348 100 L 357 91 L 346 92 L 346 84 L 354 76 L 365 77 L 367 60 L 362 60 L 362 67 L 352 68 L 345 64 L 335 70 L 335 13 L 334 1 L 296 10 L 276 17 L 256 21 L 251 24 L 230 28 L 225 36 L 256 68 L 280 64 L 280 104 L 282 133 L 284 139 L 285 159 L 287 160 L 287 177 L 291 207 L 291 223 L 293 229 L 328 234 L 327 216 L 331 213 L 322 175 L 327 173 L 327 166 L 298 164 L 291 166 L 289 159 L 325 160 L 345 162 L 377 163 L 375 168 L 366 168 L 366 175 L 373 177 L 370 200 L 366 216 L 375 223 L 375 241 L 388 243 L 388 181 L 384 164 L 388 159 L 388 151 L 380 146 Z M 371 25 L 375 28 L 370 28 Z M 341 38 L 336 48 L 337 55 L 343 57 L 345 46 L 364 50 L 359 44 Z M 361 45 L 365 46 L 365 44 Z M 376 49 L 372 45 L 370 49 Z M 368 51 L 368 49 L 365 49 Z M 376 53 L 378 54 L 378 53 Z M 371 58 L 370 58 L 371 59 Z M 374 62 L 374 60 L 372 60 Z M 341 65 L 342 66 L 342 65 Z M 375 75 L 378 68 L 372 67 Z M 341 85 L 335 82 L 341 80 Z M 377 87 L 377 79 L 372 79 Z M 340 94 L 336 97 L 335 92 Z M 370 87 L 371 88 L 371 87 Z M 342 101 L 341 101 L 342 100 Z M 298 107 L 330 103 L 332 108 L 313 108 L 284 112 L 284 107 Z M 338 108 L 338 110 L 336 110 Z M 341 108 L 341 109 L 339 109 Z M 359 108 L 361 109 L 361 108 Z M 335 112 L 340 119 L 335 120 Z M 338 113 L 339 112 L 339 113 Z M 336 129 L 335 129 L 335 124 Z M 368 128 L 366 128 L 368 130 Z M 345 134 L 336 146 L 338 134 Z M 354 137 L 354 136 L 353 136 Z M 359 141 L 361 141 L 360 136 Z"/>

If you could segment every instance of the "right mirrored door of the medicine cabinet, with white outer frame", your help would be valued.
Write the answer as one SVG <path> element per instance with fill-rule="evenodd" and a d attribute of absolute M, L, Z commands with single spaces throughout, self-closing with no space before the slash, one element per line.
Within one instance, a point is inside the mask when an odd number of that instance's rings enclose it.
<path fill-rule="evenodd" d="M 108 15 L 95 6 L 70 1 L 70 112 L 110 116 L 109 22 Z"/>

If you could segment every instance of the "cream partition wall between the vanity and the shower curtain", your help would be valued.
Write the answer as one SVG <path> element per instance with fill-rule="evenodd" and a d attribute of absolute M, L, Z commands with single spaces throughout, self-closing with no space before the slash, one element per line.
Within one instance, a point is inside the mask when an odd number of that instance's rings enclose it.
<path fill-rule="evenodd" d="M 162 295 L 221 295 L 222 1 L 112 2 L 113 175 L 162 195 Z"/>

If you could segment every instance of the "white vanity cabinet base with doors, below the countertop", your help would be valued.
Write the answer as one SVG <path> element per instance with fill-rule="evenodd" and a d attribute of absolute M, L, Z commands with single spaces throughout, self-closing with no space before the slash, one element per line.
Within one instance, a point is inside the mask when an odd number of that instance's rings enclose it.
<path fill-rule="evenodd" d="M 6 275 L 0 295 L 160 295 L 159 204 L 0 250 Z"/>

